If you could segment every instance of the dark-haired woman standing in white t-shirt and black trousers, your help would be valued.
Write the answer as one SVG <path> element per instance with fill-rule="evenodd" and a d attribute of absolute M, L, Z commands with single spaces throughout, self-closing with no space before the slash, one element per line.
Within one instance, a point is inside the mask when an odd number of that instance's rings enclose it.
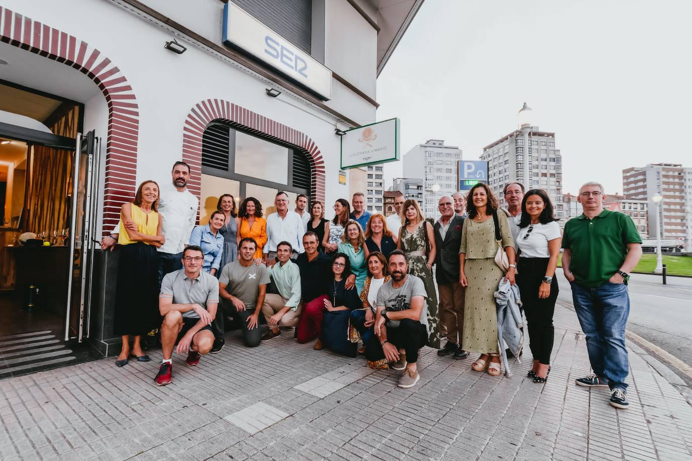
<path fill-rule="evenodd" d="M 545 383 L 553 350 L 553 313 L 558 297 L 555 269 L 562 236 L 553 216 L 553 205 L 543 189 L 528 191 L 521 211 L 515 242 L 520 251 L 516 281 L 529 323 L 529 343 L 534 356 L 527 377 L 534 378 L 535 383 Z"/>

